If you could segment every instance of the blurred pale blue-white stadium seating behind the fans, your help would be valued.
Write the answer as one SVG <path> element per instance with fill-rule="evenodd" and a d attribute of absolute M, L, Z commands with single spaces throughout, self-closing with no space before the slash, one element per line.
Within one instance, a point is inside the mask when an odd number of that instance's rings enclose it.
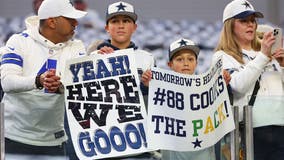
<path fill-rule="evenodd" d="M 88 9 L 88 14 L 89 10 L 91 9 Z M 107 33 L 104 30 L 104 15 L 98 15 L 95 10 L 91 11 L 94 12 L 91 14 L 94 16 L 85 19 L 87 21 L 94 21 L 94 27 L 85 27 L 83 23 L 79 22 L 76 31 L 76 38 L 81 39 L 85 46 L 107 38 Z M 25 17 L 25 15 L 14 18 L 0 17 L 0 33 L 2 33 L 0 35 L 1 46 L 4 45 L 5 41 L 12 33 L 20 32 L 25 28 L 23 22 Z M 260 23 L 274 26 L 265 19 L 260 20 Z M 204 20 L 187 20 L 186 17 L 181 20 L 138 20 L 137 24 L 139 27 L 133 34 L 133 41 L 135 41 L 140 48 L 151 51 L 155 56 L 157 66 L 161 68 L 168 68 L 168 59 L 164 56 L 164 53 L 168 50 L 167 46 L 170 44 L 171 40 L 180 37 L 190 37 L 201 48 L 198 57 L 199 63 L 196 69 L 197 73 L 203 73 L 209 68 L 210 63 L 205 62 L 210 62 L 211 60 L 223 25 L 221 20 L 208 22 Z"/>

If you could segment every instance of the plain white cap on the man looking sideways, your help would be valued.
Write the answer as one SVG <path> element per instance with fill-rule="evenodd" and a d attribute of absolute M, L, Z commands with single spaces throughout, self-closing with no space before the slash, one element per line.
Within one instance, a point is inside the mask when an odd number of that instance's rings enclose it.
<path fill-rule="evenodd" d="M 75 9 L 70 0 L 44 0 L 38 9 L 39 19 L 59 16 L 77 19 L 86 14 L 87 12 Z"/>

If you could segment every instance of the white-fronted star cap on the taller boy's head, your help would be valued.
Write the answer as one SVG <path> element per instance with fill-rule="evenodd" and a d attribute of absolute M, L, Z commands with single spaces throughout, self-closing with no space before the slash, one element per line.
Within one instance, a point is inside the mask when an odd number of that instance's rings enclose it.
<path fill-rule="evenodd" d="M 134 7 L 126 2 L 116 2 L 110 4 L 106 13 L 106 22 L 116 15 L 126 15 L 129 16 L 135 22 L 137 20 L 137 14 L 134 11 Z"/>

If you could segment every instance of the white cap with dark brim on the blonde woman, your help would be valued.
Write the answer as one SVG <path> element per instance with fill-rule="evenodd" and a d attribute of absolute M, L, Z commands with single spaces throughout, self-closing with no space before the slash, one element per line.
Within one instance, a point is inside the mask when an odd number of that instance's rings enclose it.
<path fill-rule="evenodd" d="M 246 0 L 233 0 L 228 3 L 223 12 L 223 23 L 230 18 L 243 19 L 254 14 L 257 18 L 263 18 L 261 12 L 255 11 L 254 7 Z"/>

